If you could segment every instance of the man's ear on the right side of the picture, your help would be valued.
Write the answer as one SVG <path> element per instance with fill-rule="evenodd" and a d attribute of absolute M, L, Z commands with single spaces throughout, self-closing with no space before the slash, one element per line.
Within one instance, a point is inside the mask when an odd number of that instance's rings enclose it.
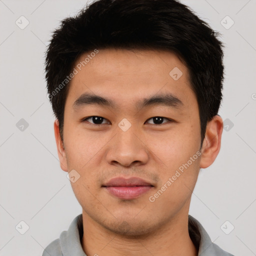
<path fill-rule="evenodd" d="M 200 168 L 210 166 L 217 157 L 220 150 L 222 130 L 223 120 L 219 115 L 215 115 L 206 126 L 201 149 Z"/>

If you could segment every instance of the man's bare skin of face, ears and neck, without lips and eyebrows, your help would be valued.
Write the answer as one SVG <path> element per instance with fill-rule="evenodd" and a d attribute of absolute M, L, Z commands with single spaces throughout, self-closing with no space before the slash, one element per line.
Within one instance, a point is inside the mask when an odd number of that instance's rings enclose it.
<path fill-rule="evenodd" d="M 183 73 L 178 80 L 169 75 L 174 67 Z M 118 107 L 95 104 L 75 110 L 72 105 L 84 92 L 111 98 Z M 166 92 L 177 96 L 183 108 L 135 108 L 137 100 Z M 104 124 L 82 121 L 93 115 L 104 117 Z M 155 116 L 173 121 L 157 124 Z M 118 126 L 123 118 L 131 123 L 126 131 Z M 199 169 L 212 164 L 219 152 L 220 116 L 207 124 L 201 155 L 154 202 L 148 199 L 200 149 L 198 104 L 188 70 L 175 54 L 99 49 L 70 81 L 63 127 L 62 144 L 58 121 L 54 122 L 60 166 L 80 175 L 70 183 L 82 206 L 81 244 L 87 256 L 197 255 L 188 234 L 188 209 Z M 102 187 L 116 176 L 138 176 L 153 187 L 135 199 L 122 200 Z"/>

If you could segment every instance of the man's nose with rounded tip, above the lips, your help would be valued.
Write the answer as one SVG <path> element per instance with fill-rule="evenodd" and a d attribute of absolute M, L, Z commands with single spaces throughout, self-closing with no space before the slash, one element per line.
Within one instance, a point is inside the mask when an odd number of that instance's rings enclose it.
<path fill-rule="evenodd" d="M 117 129 L 117 134 L 108 143 L 106 161 L 125 167 L 145 164 L 149 159 L 149 150 L 143 140 L 132 125 L 126 131 Z"/>

